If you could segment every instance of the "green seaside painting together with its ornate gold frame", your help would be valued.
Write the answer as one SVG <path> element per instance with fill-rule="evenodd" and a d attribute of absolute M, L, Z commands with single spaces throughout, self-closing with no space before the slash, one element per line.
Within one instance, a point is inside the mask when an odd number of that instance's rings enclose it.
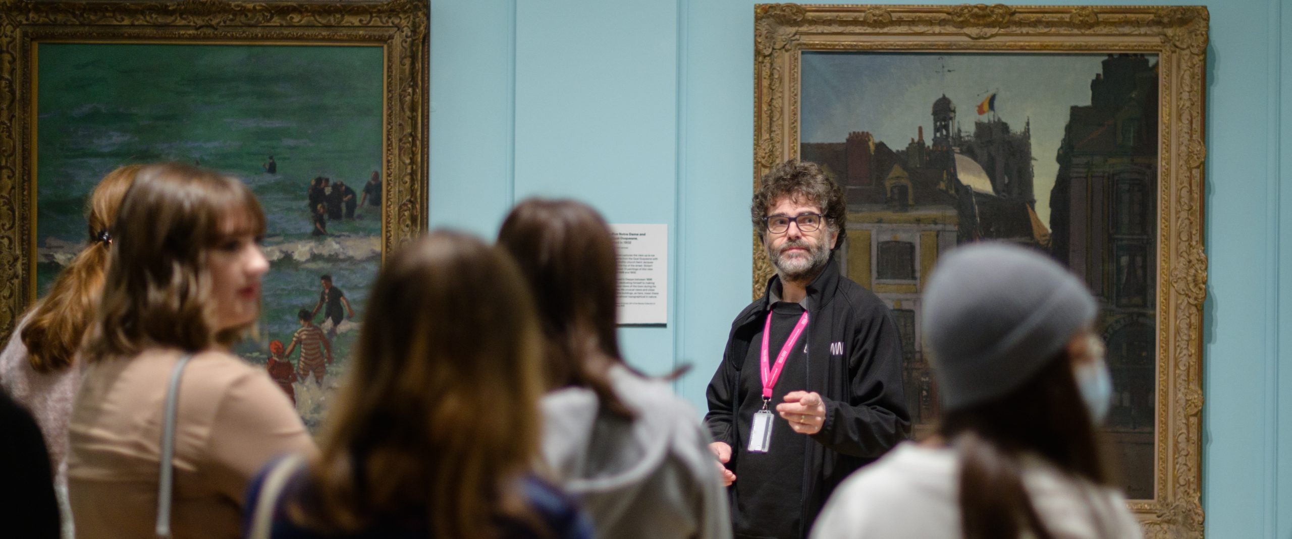
<path fill-rule="evenodd" d="M 269 219 L 265 342 L 235 352 L 265 364 L 298 309 L 328 331 L 340 361 L 293 395 L 315 428 L 381 260 L 426 228 L 429 24 L 417 0 L 0 0 L 0 337 L 84 244 L 98 178 L 196 161 Z"/>

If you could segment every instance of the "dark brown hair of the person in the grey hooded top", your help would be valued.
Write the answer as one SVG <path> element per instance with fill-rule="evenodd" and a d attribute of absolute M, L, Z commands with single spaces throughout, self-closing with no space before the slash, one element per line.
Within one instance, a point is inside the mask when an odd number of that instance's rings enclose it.
<path fill-rule="evenodd" d="M 548 389 L 587 387 L 609 410 L 632 418 L 607 378 L 611 366 L 627 364 L 615 324 L 618 251 L 606 220 L 574 200 L 528 199 L 506 215 L 497 244 L 534 291 Z"/>

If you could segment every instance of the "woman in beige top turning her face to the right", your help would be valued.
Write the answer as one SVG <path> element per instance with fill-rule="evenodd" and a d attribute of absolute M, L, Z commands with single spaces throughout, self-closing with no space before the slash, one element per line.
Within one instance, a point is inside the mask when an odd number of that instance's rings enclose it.
<path fill-rule="evenodd" d="M 256 471 L 314 447 L 265 370 L 229 352 L 260 313 L 265 215 L 240 181 L 162 164 L 138 172 L 111 228 L 68 427 L 76 535 L 154 536 L 169 464 L 174 536 L 235 538 Z M 163 463 L 163 409 L 182 357 L 174 454 Z"/>

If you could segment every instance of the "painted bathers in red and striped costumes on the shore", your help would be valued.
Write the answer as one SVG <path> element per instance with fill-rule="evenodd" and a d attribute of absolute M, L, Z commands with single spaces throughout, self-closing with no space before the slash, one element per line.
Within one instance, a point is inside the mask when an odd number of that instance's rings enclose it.
<path fill-rule="evenodd" d="M 313 309 L 302 308 L 296 313 L 300 329 L 292 334 L 292 340 L 286 347 L 282 340 L 269 342 L 269 361 L 265 369 L 269 377 L 283 388 L 283 392 L 296 402 L 295 383 L 307 383 L 310 375 L 314 377 L 315 387 L 323 387 L 323 377 L 327 375 L 327 366 L 332 365 L 332 342 L 336 339 L 337 328 L 341 321 L 354 318 L 354 308 L 345 298 L 341 289 L 332 286 L 332 276 L 322 275 L 319 284 L 323 291 Z M 314 317 L 323 309 L 323 325 L 314 324 Z M 327 328 L 324 331 L 323 328 Z M 300 357 L 292 365 L 292 352 L 300 348 Z"/>

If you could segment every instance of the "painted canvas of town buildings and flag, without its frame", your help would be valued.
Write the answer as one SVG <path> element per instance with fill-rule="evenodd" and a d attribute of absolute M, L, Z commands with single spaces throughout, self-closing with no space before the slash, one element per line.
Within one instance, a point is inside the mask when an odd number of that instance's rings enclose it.
<path fill-rule="evenodd" d="M 938 387 L 920 294 L 973 241 L 1053 257 L 1099 304 L 1103 426 L 1132 499 L 1152 499 L 1159 74 L 1154 54 L 804 52 L 798 153 L 848 196 L 842 271 L 893 309 L 916 436 Z"/>

